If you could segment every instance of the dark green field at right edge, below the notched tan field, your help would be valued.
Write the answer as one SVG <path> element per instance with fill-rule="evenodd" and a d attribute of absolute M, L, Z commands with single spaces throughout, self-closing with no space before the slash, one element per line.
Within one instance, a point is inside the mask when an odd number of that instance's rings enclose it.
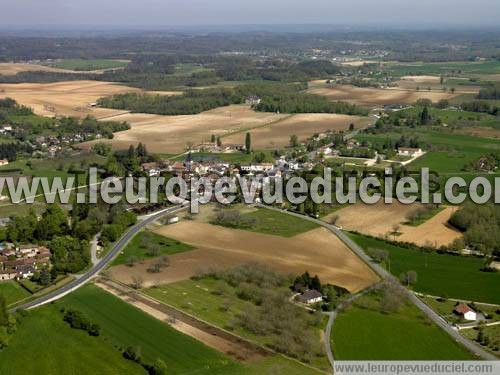
<path fill-rule="evenodd" d="M 403 249 L 382 240 L 351 234 L 351 238 L 368 254 L 383 249 L 390 254 L 390 271 L 399 276 L 406 271 L 418 275 L 414 289 L 434 296 L 447 296 L 466 301 L 500 304 L 499 272 L 482 272 L 483 259 L 426 253 Z"/>

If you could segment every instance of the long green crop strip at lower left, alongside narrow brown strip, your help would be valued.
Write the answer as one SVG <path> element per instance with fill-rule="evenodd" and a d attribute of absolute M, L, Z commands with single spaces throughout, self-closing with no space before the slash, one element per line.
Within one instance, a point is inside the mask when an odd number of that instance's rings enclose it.
<path fill-rule="evenodd" d="M 96 286 L 79 289 L 57 304 L 77 309 L 99 324 L 112 345 L 140 347 L 146 361 L 161 358 L 173 373 L 214 373 L 235 366 L 224 355 Z"/>

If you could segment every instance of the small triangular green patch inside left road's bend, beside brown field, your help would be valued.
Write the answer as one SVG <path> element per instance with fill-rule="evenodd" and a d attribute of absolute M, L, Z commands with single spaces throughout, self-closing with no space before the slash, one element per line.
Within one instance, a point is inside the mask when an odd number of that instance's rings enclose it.
<path fill-rule="evenodd" d="M 113 265 L 127 263 L 127 259 L 131 256 L 137 257 L 139 260 L 156 258 L 161 255 L 172 255 L 177 253 L 182 253 L 184 251 L 193 250 L 194 247 L 187 245 L 185 243 L 172 240 L 167 237 L 160 236 L 159 234 L 149 232 L 149 245 L 157 245 L 159 250 L 156 255 L 148 254 L 148 249 L 143 245 L 143 239 L 146 232 L 138 233 L 123 249 L 123 251 L 118 255 L 118 257 L 113 261 Z"/>

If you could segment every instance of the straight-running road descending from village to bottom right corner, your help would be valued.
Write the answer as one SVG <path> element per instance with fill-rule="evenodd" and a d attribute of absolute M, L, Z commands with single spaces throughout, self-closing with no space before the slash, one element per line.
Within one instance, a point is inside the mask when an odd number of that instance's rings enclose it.
<path fill-rule="evenodd" d="M 374 263 L 373 260 L 364 252 L 364 250 L 358 246 L 353 240 L 351 240 L 342 230 L 337 228 L 334 225 L 330 225 L 325 223 L 324 221 L 321 221 L 319 219 L 315 219 L 309 216 L 304 216 L 301 214 L 297 214 L 295 212 L 290 212 L 290 211 L 283 211 L 278 208 L 274 207 L 269 207 L 265 206 L 262 204 L 257 204 L 257 207 L 261 208 L 266 208 L 269 210 L 274 210 L 282 213 L 286 213 L 288 215 L 296 216 L 298 218 L 302 218 L 304 220 L 311 221 L 313 223 L 316 223 L 317 225 L 320 225 L 326 229 L 328 229 L 330 232 L 335 234 L 346 246 L 348 246 L 359 258 L 361 258 L 373 271 L 375 271 L 383 280 L 384 279 L 394 279 L 394 276 L 390 274 L 385 268 L 380 266 L 378 263 Z M 465 346 L 470 352 L 474 353 L 475 355 L 486 359 L 490 361 L 497 361 L 498 358 L 495 357 L 493 354 L 488 353 L 486 350 L 484 350 L 481 346 L 476 344 L 475 342 L 466 339 L 460 333 L 458 333 L 458 330 L 451 325 L 449 325 L 441 316 L 439 316 L 438 313 L 436 313 L 434 310 L 432 310 L 429 306 L 427 306 L 422 300 L 420 300 L 412 291 L 404 288 L 406 291 L 406 294 L 408 296 L 408 299 L 415 305 L 417 306 L 429 319 L 431 319 L 434 323 L 436 323 L 443 331 L 448 333 L 456 342 L 459 344 Z"/>

